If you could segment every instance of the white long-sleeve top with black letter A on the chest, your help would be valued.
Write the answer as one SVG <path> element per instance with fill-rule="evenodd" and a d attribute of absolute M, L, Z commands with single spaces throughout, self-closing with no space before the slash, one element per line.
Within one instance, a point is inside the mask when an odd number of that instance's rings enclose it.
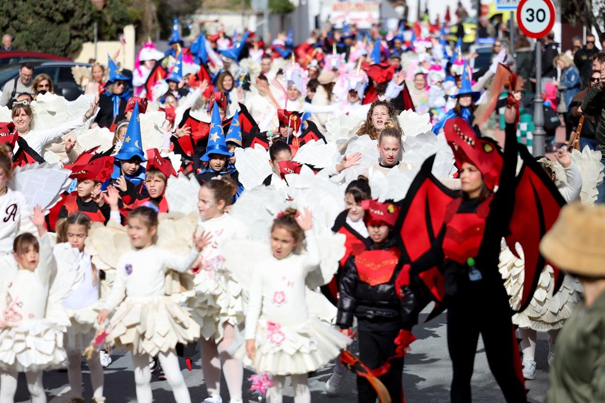
<path fill-rule="evenodd" d="M 19 234 L 38 235 L 38 228 L 30 220 L 31 207 L 21 192 L 7 189 L 0 196 L 0 254 L 13 251 L 13 241 Z"/>

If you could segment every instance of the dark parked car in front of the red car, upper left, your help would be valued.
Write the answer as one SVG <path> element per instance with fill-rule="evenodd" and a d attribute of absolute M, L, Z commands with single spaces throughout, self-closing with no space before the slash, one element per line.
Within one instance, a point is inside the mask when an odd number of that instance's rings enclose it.
<path fill-rule="evenodd" d="M 73 74 L 71 74 L 71 68 L 73 66 L 87 66 L 91 65 L 88 63 L 76 63 L 67 61 L 53 61 L 53 60 L 27 60 L 34 66 L 34 77 L 38 74 L 45 73 L 50 76 L 53 80 L 54 93 L 62 95 L 68 101 L 76 100 L 77 97 L 83 94 L 82 87 L 77 85 L 74 80 Z M 17 64 L 11 64 L 0 68 L 0 89 L 4 89 L 4 85 L 10 80 L 15 80 L 19 76 L 19 68 L 21 68 L 21 62 Z M 126 77 L 132 78 L 132 71 L 124 69 L 122 71 Z M 1 93 L 1 92 L 0 92 Z"/>

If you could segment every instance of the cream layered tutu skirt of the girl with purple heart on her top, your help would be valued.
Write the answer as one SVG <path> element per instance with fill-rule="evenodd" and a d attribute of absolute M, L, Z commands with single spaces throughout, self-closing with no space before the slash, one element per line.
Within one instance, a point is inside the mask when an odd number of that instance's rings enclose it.
<path fill-rule="evenodd" d="M 108 340 L 133 354 L 157 355 L 200 337 L 200 325 L 174 298 L 127 297 L 111 317 Z"/>

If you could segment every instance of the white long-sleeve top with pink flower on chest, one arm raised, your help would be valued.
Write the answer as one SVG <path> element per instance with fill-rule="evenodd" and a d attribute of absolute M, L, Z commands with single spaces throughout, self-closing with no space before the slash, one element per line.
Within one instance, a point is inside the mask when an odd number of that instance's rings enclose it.
<path fill-rule="evenodd" d="M 252 273 L 246 312 L 246 340 L 255 339 L 259 318 L 293 326 L 309 318 L 305 279 L 321 262 L 313 231 L 305 231 L 307 250 L 283 259 L 271 256 L 258 262 Z"/>

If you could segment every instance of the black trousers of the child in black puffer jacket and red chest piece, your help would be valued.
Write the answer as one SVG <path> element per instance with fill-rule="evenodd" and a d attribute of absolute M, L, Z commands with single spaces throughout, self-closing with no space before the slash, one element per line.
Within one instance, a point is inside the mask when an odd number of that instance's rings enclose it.
<path fill-rule="evenodd" d="M 369 369 L 376 369 L 387 361 L 387 358 L 395 355 L 394 340 L 399 334 L 399 329 L 369 331 L 359 330 L 359 359 Z M 404 372 L 404 358 L 391 361 L 391 368 L 379 379 L 387 387 L 393 403 L 401 402 L 401 376 Z M 378 397 L 376 390 L 363 376 L 357 376 L 357 392 L 359 403 L 374 403 Z"/>

